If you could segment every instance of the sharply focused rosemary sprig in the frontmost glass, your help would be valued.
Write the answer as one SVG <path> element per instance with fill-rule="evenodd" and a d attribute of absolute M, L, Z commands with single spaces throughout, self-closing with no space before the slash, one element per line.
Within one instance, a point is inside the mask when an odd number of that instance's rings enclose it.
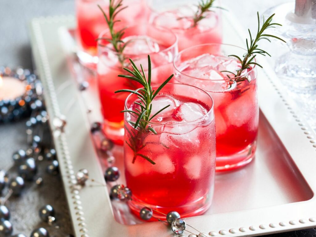
<path fill-rule="evenodd" d="M 161 91 L 161 89 L 171 80 L 173 75 L 169 76 L 166 81 L 164 81 L 156 90 L 153 90 L 151 87 L 151 60 L 150 56 L 148 55 L 148 79 L 145 75 L 144 69 L 142 64 L 140 65 L 141 70 L 137 68 L 133 60 L 130 59 L 131 67 L 133 71 L 124 68 L 125 71 L 130 73 L 130 75 L 119 75 L 119 77 L 124 77 L 126 79 L 131 79 L 133 81 L 136 81 L 140 83 L 144 88 L 140 88 L 137 90 L 130 90 L 130 89 L 122 89 L 115 91 L 115 93 L 121 93 L 121 92 L 129 92 L 136 94 L 139 101 L 135 101 L 134 103 L 139 106 L 139 109 L 136 108 L 134 110 L 123 110 L 121 112 L 129 112 L 134 115 L 136 115 L 137 119 L 136 122 L 128 121 L 131 125 L 134 126 L 137 131 L 130 131 L 125 126 L 125 130 L 130 134 L 129 141 L 125 141 L 126 144 L 134 151 L 134 157 L 132 163 L 135 162 L 136 157 L 142 157 L 149 161 L 152 164 L 155 164 L 154 161 L 152 161 L 149 157 L 139 153 L 141 149 L 143 149 L 147 144 L 144 143 L 144 138 L 146 137 L 145 134 L 148 134 L 149 132 L 153 132 L 154 134 L 157 134 L 155 129 L 149 125 L 149 122 L 155 118 L 161 111 L 169 107 L 170 105 L 165 106 L 155 114 L 151 114 L 152 111 L 152 104 L 151 102 L 156 97 L 156 95 Z M 163 144 L 161 144 L 163 145 Z M 163 145 L 164 146 L 164 145 Z"/>

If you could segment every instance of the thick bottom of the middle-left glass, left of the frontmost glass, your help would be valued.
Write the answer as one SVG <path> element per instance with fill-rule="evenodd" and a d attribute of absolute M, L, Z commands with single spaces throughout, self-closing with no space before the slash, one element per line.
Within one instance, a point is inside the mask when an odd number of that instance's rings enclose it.
<path fill-rule="evenodd" d="M 105 121 L 102 125 L 102 131 L 105 137 L 117 145 L 124 144 L 124 125 L 122 123 L 113 123 Z"/>

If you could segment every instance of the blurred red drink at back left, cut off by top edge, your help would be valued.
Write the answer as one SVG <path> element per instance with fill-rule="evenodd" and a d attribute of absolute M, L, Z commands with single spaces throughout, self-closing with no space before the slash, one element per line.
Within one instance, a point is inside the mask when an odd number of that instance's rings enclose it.
<path fill-rule="evenodd" d="M 118 0 L 114 0 L 118 2 Z M 109 0 L 76 0 L 77 38 L 81 52 L 78 56 L 84 64 L 97 62 L 96 39 L 107 28 L 106 21 L 98 5 L 108 13 Z M 116 17 L 124 24 L 144 23 L 149 18 L 149 9 L 145 0 L 124 0 L 123 6 L 128 6 Z"/>

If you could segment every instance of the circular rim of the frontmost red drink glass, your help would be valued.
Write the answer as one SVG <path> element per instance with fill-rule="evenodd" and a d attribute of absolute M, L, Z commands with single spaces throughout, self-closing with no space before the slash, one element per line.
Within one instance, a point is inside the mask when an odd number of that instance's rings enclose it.
<path fill-rule="evenodd" d="M 202 117 L 200 117 L 200 118 L 198 118 L 198 119 L 194 119 L 194 120 L 192 120 L 192 121 L 177 122 L 177 123 L 174 123 L 174 124 L 148 122 L 148 124 L 160 125 L 160 126 L 185 125 L 185 124 L 190 124 L 190 123 L 194 123 L 194 122 L 196 122 L 196 121 L 199 121 L 199 120 L 203 119 L 204 117 L 209 116 L 210 113 L 212 113 L 212 112 L 214 111 L 214 100 L 213 100 L 212 96 L 211 96 L 209 93 L 207 93 L 207 91 L 205 91 L 205 90 L 203 90 L 203 89 L 201 89 L 201 88 L 198 88 L 198 87 L 196 87 L 196 86 L 192 86 L 192 85 L 189 85 L 189 84 L 183 84 L 183 83 L 167 83 L 165 86 L 171 86 L 171 85 L 189 86 L 189 87 L 193 87 L 193 88 L 196 88 L 197 90 L 200 90 L 200 91 L 204 92 L 204 93 L 211 99 L 211 101 L 212 101 L 212 106 L 210 107 L 210 110 L 209 110 L 206 114 L 204 114 Z M 152 85 L 151 87 L 153 88 L 153 87 L 159 87 L 159 86 L 160 86 L 160 84 L 154 84 L 154 85 Z M 138 90 L 140 90 L 140 89 L 143 89 L 143 87 L 142 87 L 142 88 L 138 88 L 136 91 L 138 91 Z M 124 109 L 126 109 L 126 110 L 128 110 L 127 101 L 130 99 L 130 97 L 131 97 L 132 95 L 135 95 L 135 94 L 131 93 L 131 94 L 129 94 L 129 95 L 127 96 L 127 98 L 125 99 L 125 102 L 124 102 Z M 157 95 L 159 95 L 159 93 L 158 93 Z M 203 102 L 203 101 L 202 101 L 202 102 Z M 132 102 L 132 103 L 134 103 L 134 102 Z M 131 113 L 131 112 L 125 112 L 125 113 L 129 113 L 129 114 L 130 114 L 131 116 L 133 116 L 134 118 L 137 118 L 137 117 L 136 117 L 133 113 Z M 213 118 L 213 119 L 215 119 L 215 118 Z M 141 119 L 141 121 L 144 121 L 144 120 Z"/>

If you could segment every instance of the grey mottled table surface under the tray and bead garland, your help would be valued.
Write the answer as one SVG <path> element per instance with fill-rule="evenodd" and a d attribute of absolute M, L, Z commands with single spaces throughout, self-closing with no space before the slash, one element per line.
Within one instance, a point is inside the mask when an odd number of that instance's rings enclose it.
<path fill-rule="evenodd" d="M 236 5 L 235 10 L 243 9 L 242 5 L 275 4 L 275 1 L 259 0 L 227 0 Z M 277 2 L 284 2 L 283 0 Z M 263 7 L 266 8 L 264 5 Z M 31 47 L 27 24 L 33 17 L 47 15 L 74 14 L 74 0 L 1 0 L 0 1 L 0 66 L 32 69 Z M 245 17 L 245 16 L 244 16 Z M 246 26 L 248 27 L 248 26 Z M 27 149 L 25 121 L 0 125 L 0 169 L 14 173 L 12 154 L 17 149 Z M 21 197 L 10 198 L 8 206 L 11 210 L 11 222 L 14 234 L 23 233 L 29 236 L 32 229 L 45 227 L 51 237 L 66 237 L 72 233 L 72 227 L 61 180 L 58 176 L 45 173 L 45 163 L 40 165 L 39 175 L 44 182 L 41 187 L 34 183 L 27 184 Z M 57 224 L 60 229 L 48 226 L 40 221 L 38 210 L 45 204 L 54 206 L 57 212 Z M 104 235 L 106 236 L 106 234 Z M 316 237 L 316 229 L 273 234 L 270 237 Z M 101 237 L 101 236 L 92 236 Z"/>

